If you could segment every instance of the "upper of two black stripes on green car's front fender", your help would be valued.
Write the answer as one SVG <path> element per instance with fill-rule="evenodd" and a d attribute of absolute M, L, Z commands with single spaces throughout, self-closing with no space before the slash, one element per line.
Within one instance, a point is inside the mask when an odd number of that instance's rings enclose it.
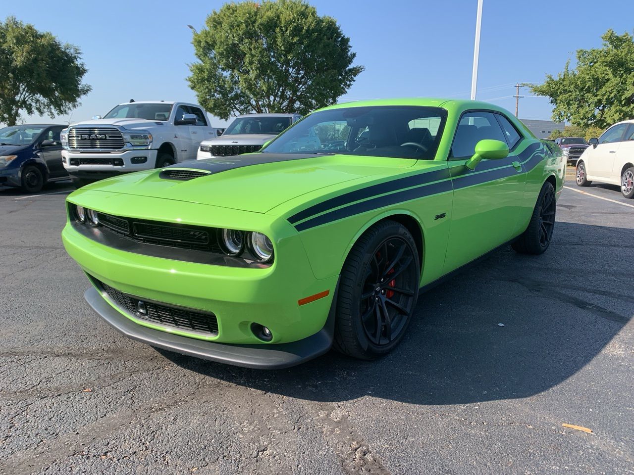
<path fill-rule="evenodd" d="M 378 194 L 391 193 L 392 191 L 423 185 L 432 181 L 446 180 L 448 178 L 450 178 L 449 170 L 447 168 L 442 168 L 441 170 L 418 173 L 416 175 L 410 175 L 397 180 L 368 186 L 349 193 L 344 193 L 340 196 L 335 196 L 334 198 L 330 198 L 326 201 L 321 201 L 321 203 L 317 203 L 316 205 L 310 206 L 309 208 L 292 215 L 288 218 L 288 222 L 294 224 L 302 219 L 306 219 L 324 211 L 332 210 L 332 208 L 347 205 L 353 201 L 365 200 L 365 198 L 372 198 L 372 196 L 377 196 Z"/>

